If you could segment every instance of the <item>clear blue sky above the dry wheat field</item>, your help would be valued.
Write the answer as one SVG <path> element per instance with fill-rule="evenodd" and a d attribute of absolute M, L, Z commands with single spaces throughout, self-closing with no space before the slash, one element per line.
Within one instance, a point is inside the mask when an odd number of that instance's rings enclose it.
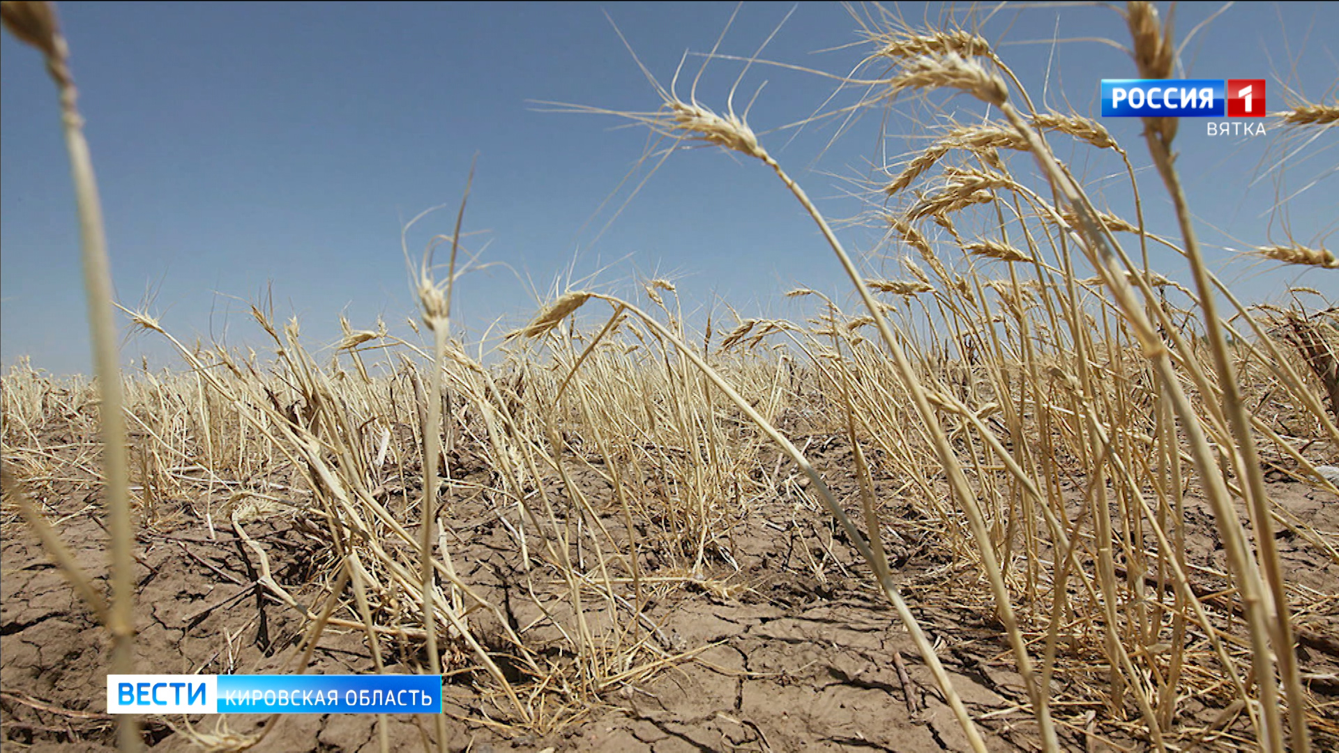
<path fill-rule="evenodd" d="M 1177 38 L 1220 7 L 1181 4 Z M 742 7 L 720 51 L 753 54 L 791 8 Z M 569 269 L 574 279 L 597 273 L 586 285 L 629 295 L 639 276 L 667 276 L 690 308 L 724 300 L 744 315 L 790 312 L 781 293 L 801 284 L 846 291 L 832 252 L 775 177 L 718 150 L 671 155 L 600 234 L 611 206 L 627 198 L 616 189 L 647 151 L 645 130 L 536 105 L 655 110 L 653 90 L 604 13 L 668 82 L 686 51 L 711 48 L 734 11 L 706 3 L 60 3 L 116 295 L 130 307 L 151 300 L 163 326 L 186 342 L 264 344 L 244 301 L 269 283 L 277 314 L 297 315 L 308 344 L 332 342 L 340 312 L 359 328 L 383 315 L 410 336 L 404 320 L 414 297 L 400 229 L 446 205 L 411 230 L 410 249 L 416 255 L 434 233 L 451 232 L 475 154 L 467 248 L 494 265 L 458 287 L 453 314 L 467 339 L 494 320 L 528 319 L 536 291 L 566 284 Z M 897 12 L 913 24 L 949 13 L 911 3 Z M 979 8 L 977 19 L 988 12 Z M 865 48 L 833 48 L 858 42 L 857 28 L 841 5 L 799 4 L 762 56 L 846 72 Z M 1099 79 L 1135 76 L 1126 54 L 1093 40 L 1127 40 L 1111 8 L 1011 5 L 980 31 L 1034 99 L 1050 106 L 1099 115 Z M 1335 100 L 1335 39 L 1336 3 L 1239 3 L 1198 31 L 1182 60 L 1188 76 L 1268 79 L 1268 106 L 1277 110 L 1284 86 L 1312 102 Z M 688 70 L 699 63 L 690 58 Z M 39 368 L 86 372 L 78 228 L 55 91 L 36 51 L 8 33 L 0 68 L 0 359 L 8 366 L 29 354 Z M 738 63 L 712 62 L 699 99 L 723 110 L 738 72 Z M 850 196 L 857 182 L 872 176 L 872 162 L 921 143 L 925 123 L 984 111 L 961 96 L 937 96 L 939 111 L 898 100 L 886 122 L 884 113 L 869 113 L 829 145 L 834 122 L 774 129 L 825 107 L 833 82 L 755 66 L 736 105 L 765 80 L 750 122 L 771 131 L 765 146 L 833 218 L 870 209 L 868 194 Z M 1105 125 L 1148 170 L 1138 122 Z M 881 142 L 880 126 L 893 138 Z M 1339 297 L 1339 272 L 1280 269 L 1232 251 L 1284 243 L 1283 220 L 1297 241 L 1334 249 L 1335 134 L 1210 138 L 1202 122 L 1182 122 L 1178 167 L 1201 238 L 1244 297 L 1277 299 L 1288 284 Z M 1062 158 L 1073 157 L 1071 166 L 1101 188 L 1107 166 L 1087 154 Z M 1154 229 L 1174 234 L 1161 182 L 1145 172 L 1142 186 Z M 1299 190 L 1285 214 L 1271 213 L 1276 196 Z M 1103 198 L 1122 212 L 1129 205 L 1123 196 Z M 880 232 L 850 226 L 842 237 L 869 252 Z M 877 259 L 868 264 L 880 272 Z M 1156 265 L 1172 276 L 1182 269 L 1165 256 Z M 177 364 L 150 335 L 126 340 L 126 362 L 141 354 Z"/>

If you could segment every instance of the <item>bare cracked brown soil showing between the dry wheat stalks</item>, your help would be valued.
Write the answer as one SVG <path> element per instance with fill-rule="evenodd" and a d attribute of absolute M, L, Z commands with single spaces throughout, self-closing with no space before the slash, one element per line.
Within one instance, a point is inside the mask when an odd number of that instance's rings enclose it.
<path fill-rule="evenodd" d="M 841 442 L 821 456 L 841 461 Z M 1273 498 L 1318 531 L 1339 531 L 1339 500 L 1272 476 Z M 595 485 L 593 481 L 577 481 Z M 844 492 L 841 484 L 837 492 Z M 892 494 L 896 480 L 880 480 Z M 106 587 L 104 531 L 98 496 L 78 481 L 55 482 L 39 496 L 48 516 L 84 568 Z M 849 488 L 845 489 L 850 492 Z M 1007 642 L 984 602 L 955 598 L 972 572 L 948 567 L 915 525 L 917 515 L 886 500 L 888 520 L 901 521 L 890 547 L 904 594 L 991 750 L 1036 750 L 1031 717 L 1012 671 Z M 283 671 L 297 654 L 305 622 L 291 607 L 257 588 L 254 553 L 229 525 L 206 525 L 182 505 L 142 531 L 138 539 L 138 671 L 237 673 Z M 1188 510 L 1193 525 L 1190 563 L 1221 568 L 1221 548 L 1206 508 Z M 617 519 L 611 516 L 611 525 Z M 483 502 L 461 502 L 443 516 L 455 541 L 461 577 L 490 600 L 507 604 L 520 624 L 534 611 L 516 568 L 514 543 Z M 313 577 L 328 572 L 329 553 L 301 515 L 284 512 L 246 523 L 246 532 L 268 552 L 274 579 L 312 604 Z M 692 659 L 675 662 L 644 682 L 600 694 L 584 709 L 552 709 L 548 734 L 498 729 L 499 705 L 485 698 L 481 671 L 451 677 L 446 686 L 446 730 L 451 750 L 967 750 L 965 738 L 936 690 L 911 638 L 886 602 L 868 586 L 858 556 L 829 516 L 801 498 L 761 504 L 732 532 L 739 571 L 711 563 L 711 583 L 691 580 L 656 592 L 648 616 L 656 639 Z M 1332 540 L 1332 537 L 1331 537 Z M 1319 594 L 1339 592 L 1339 565 L 1297 536 L 1283 531 L 1279 545 L 1292 583 Z M 0 725 L 8 749 L 103 750 L 114 746 L 104 706 L 108 638 L 21 523 L 4 528 L 0 599 Z M 648 561 L 648 569 L 657 563 Z M 664 563 L 660 563 L 664 564 Z M 1206 594 L 1221 588 L 1204 575 Z M 981 588 L 975 586 L 975 592 Z M 961 591 L 959 591 L 960 595 Z M 513 611 L 514 610 L 514 611 Z M 534 611 L 534 614 L 538 614 Z M 1297 616 L 1303 631 L 1299 657 L 1322 714 L 1315 730 L 1320 748 L 1339 745 L 1339 681 L 1335 681 L 1339 606 L 1331 599 Z M 486 623 L 479 624 L 483 634 Z M 1327 638 L 1328 636 L 1328 638 Z M 1310 644 L 1307 639 L 1310 638 Z M 542 639 L 537 635 L 536 639 Z M 390 651 L 391 671 L 412 671 L 412 651 Z M 465 662 L 467 663 L 467 662 Z M 366 636 L 329 628 L 309 669 L 317 674 L 372 671 Z M 1328 678 L 1328 679 L 1327 679 Z M 1105 714 L 1101 699 L 1082 697 L 1083 682 L 1058 674 L 1062 744 L 1074 750 L 1141 749 L 1142 741 L 1118 730 L 1083 725 Z M 1185 714 L 1218 715 L 1214 699 L 1188 698 Z M 224 721 L 236 733 L 258 729 L 262 717 L 193 720 L 197 730 L 216 732 Z M 155 750 L 191 750 L 183 720 L 145 720 Z M 561 722 L 561 724 L 560 724 Z M 391 750 L 419 750 L 435 737 L 430 717 L 391 715 Z M 293 714 L 254 750 L 340 752 L 379 749 L 376 717 Z M 1114 745 L 1114 746 L 1113 746 Z M 1212 749 L 1212 746 L 1209 746 Z M 1334 749 L 1334 748 L 1330 748 Z"/>

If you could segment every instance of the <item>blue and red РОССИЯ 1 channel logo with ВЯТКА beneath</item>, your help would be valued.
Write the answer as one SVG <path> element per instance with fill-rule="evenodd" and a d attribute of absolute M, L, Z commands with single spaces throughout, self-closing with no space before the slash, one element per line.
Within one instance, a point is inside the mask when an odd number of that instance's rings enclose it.
<path fill-rule="evenodd" d="M 1265 79 L 1102 79 L 1103 118 L 1264 118 Z M 1209 135 L 1263 134 L 1264 123 L 1208 123 Z M 1217 127 L 1216 127 L 1217 126 Z"/>

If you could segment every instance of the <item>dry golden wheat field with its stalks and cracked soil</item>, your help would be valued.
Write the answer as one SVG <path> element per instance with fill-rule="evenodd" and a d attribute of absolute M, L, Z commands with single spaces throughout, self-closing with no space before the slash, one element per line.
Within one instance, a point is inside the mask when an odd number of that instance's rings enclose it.
<path fill-rule="evenodd" d="M 4 11 L 72 91 L 48 7 Z M 1119 12 L 1138 75 L 1170 76 L 1164 20 Z M 1034 107 L 968 29 L 869 21 L 844 74 L 861 107 L 977 117 L 873 186 L 896 279 L 687 76 L 615 114 L 774 173 L 854 305 L 799 288 L 803 318 L 692 326 L 649 279 L 566 291 L 485 355 L 451 330 L 463 202 L 418 267 L 418 339 L 341 322 L 313 347 L 257 301 L 236 350 L 122 308 L 181 367 L 118 370 L 90 285 L 98 378 L 3 376 L 4 748 L 1339 748 L 1339 308 L 1315 289 L 1339 263 L 1255 249 L 1314 288 L 1239 300 L 1204 263 L 1174 119 L 1117 143 Z M 1180 222 L 1109 212 L 1060 143 L 1150 155 L 1122 190 Z M 106 715 L 131 667 L 442 674 L 445 713 Z"/>

